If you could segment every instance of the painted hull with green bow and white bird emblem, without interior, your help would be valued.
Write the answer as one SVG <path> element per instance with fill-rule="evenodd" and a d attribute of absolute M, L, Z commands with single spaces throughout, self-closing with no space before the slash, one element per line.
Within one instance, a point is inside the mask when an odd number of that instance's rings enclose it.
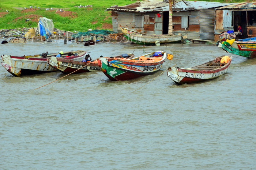
<path fill-rule="evenodd" d="M 162 68 L 166 53 L 159 62 L 140 63 L 132 60 L 99 58 L 98 64 L 102 72 L 112 81 L 130 80 L 140 76 L 153 74 Z"/>

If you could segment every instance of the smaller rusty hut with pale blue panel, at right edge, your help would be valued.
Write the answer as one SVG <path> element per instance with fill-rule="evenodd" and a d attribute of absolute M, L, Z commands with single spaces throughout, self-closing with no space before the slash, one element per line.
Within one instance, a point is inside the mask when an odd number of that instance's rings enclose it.
<path fill-rule="evenodd" d="M 216 8 L 216 20 L 215 41 L 227 30 L 237 31 L 237 23 L 243 30 L 239 38 L 256 37 L 256 2 L 233 3 Z"/>

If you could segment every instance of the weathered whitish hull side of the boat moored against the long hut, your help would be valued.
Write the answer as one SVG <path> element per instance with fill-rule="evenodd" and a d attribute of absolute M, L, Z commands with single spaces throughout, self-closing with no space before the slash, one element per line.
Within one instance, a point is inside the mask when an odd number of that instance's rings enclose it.
<path fill-rule="evenodd" d="M 141 45 L 153 45 L 158 43 L 174 43 L 181 42 L 182 34 L 172 34 L 172 35 L 142 35 L 142 34 L 130 34 L 129 39 L 136 44 Z"/>

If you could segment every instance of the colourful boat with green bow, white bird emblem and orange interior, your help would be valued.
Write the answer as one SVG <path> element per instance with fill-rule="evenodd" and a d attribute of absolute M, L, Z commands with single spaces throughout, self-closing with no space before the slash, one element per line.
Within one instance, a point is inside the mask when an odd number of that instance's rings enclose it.
<path fill-rule="evenodd" d="M 110 80 L 129 80 L 157 72 L 166 57 L 172 59 L 172 56 L 166 52 L 151 52 L 133 59 L 99 58 L 98 64 Z"/>

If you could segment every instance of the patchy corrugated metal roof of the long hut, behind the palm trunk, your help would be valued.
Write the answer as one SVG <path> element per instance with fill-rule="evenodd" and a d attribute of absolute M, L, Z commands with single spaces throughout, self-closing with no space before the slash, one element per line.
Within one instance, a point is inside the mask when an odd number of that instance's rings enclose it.
<path fill-rule="evenodd" d="M 230 5 L 234 3 L 219 3 L 219 2 L 207 2 L 207 1 L 186 1 L 185 4 L 183 1 L 179 1 L 176 3 L 175 8 L 173 7 L 173 11 L 191 11 L 191 10 L 201 10 L 208 8 L 218 8 L 225 5 Z M 131 4 L 130 4 L 131 5 Z M 152 11 L 169 11 L 169 3 L 165 3 L 162 0 L 146 0 L 141 1 L 139 7 L 135 7 L 134 9 L 129 8 L 129 5 L 121 6 L 121 8 L 107 8 L 107 10 L 114 11 L 131 11 L 131 12 L 152 12 Z M 127 9 L 124 9 L 127 7 Z M 155 10 L 154 10 L 155 9 Z"/>

